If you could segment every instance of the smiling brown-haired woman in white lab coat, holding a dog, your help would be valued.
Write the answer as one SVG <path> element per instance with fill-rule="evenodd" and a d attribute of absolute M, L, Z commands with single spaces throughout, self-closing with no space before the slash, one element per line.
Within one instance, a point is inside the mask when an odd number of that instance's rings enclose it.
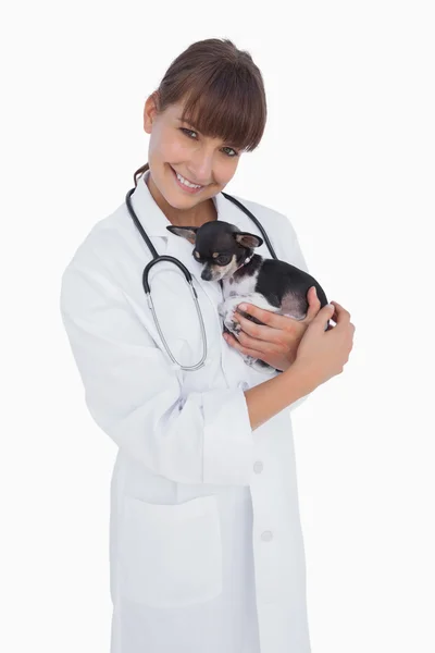
<path fill-rule="evenodd" d="M 125 202 L 98 222 L 62 278 L 61 310 L 95 421 L 119 446 L 111 484 L 112 653 L 308 653 L 306 571 L 291 422 L 343 371 L 355 326 L 312 288 L 306 320 L 250 307 L 237 341 L 222 335 L 217 282 L 167 225 L 225 220 L 259 233 L 221 190 L 264 131 L 260 71 L 227 39 L 191 45 L 147 99 L 149 162 L 132 202 L 158 252 L 189 268 L 208 340 L 185 371 L 161 345 L 142 270 L 151 260 Z M 176 173 L 200 186 L 186 189 Z M 307 271 L 286 217 L 241 199 L 277 258 Z M 270 257 L 265 245 L 259 254 Z M 160 269 L 158 270 L 158 268 Z M 175 358 L 200 353 L 186 281 L 152 268 L 157 315 Z M 334 310 L 334 307 L 333 307 Z M 327 320 L 336 326 L 325 331 Z M 264 360 L 272 378 L 244 361 Z M 278 373 L 281 371 L 282 373 Z"/>

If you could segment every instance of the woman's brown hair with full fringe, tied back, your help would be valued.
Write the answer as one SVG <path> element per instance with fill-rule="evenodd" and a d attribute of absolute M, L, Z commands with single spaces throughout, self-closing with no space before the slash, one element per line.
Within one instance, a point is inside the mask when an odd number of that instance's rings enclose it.
<path fill-rule="evenodd" d="M 227 38 L 197 41 L 170 65 L 154 93 L 159 112 L 185 100 L 183 120 L 240 151 L 259 145 L 266 121 L 263 78 L 249 52 Z M 146 163 L 134 174 L 149 169 Z"/>

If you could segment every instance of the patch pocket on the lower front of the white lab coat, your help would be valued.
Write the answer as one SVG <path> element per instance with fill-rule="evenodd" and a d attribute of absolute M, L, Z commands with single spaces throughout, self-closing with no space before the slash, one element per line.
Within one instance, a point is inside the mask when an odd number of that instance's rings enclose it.
<path fill-rule="evenodd" d="M 126 599 L 181 607 L 222 592 L 222 541 L 215 495 L 181 504 L 125 496 L 120 583 Z"/>

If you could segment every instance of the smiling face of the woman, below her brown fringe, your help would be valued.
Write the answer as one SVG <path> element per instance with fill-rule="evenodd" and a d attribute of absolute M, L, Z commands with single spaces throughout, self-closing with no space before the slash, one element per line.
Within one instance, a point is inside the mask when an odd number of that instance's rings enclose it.
<path fill-rule="evenodd" d="M 177 103 L 159 114 L 150 96 L 144 110 L 144 130 L 150 134 L 148 163 L 153 184 L 172 207 L 189 209 L 226 186 L 241 152 L 219 138 L 202 136 L 192 125 L 182 122 L 182 110 L 183 104 Z M 186 187 L 175 173 L 201 187 Z"/>

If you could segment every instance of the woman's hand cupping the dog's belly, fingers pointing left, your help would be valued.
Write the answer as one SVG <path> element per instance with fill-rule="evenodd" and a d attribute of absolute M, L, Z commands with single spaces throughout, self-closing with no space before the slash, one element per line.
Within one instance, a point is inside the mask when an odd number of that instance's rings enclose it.
<path fill-rule="evenodd" d="M 258 308 L 253 304 L 239 304 L 237 309 L 251 315 L 264 325 L 251 322 L 237 310 L 234 319 L 241 326 L 238 338 L 232 333 L 224 333 L 224 338 L 228 345 L 241 354 L 259 358 L 284 372 L 295 361 L 299 343 L 308 325 L 320 310 L 320 299 L 315 293 L 315 286 L 308 291 L 307 299 L 308 312 L 301 321 Z M 241 308 L 243 306 L 246 306 L 246 309 Z"/>

